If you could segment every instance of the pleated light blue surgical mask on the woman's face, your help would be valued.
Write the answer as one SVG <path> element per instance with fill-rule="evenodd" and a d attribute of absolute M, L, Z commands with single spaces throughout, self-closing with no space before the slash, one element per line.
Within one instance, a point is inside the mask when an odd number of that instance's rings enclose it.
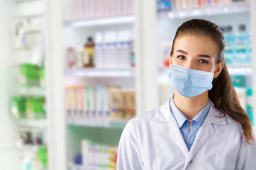
<path fill-rule="evenodd" d="M 214 73 L 194 70 L 172 64 L 168 77 L 176 90 L 185 97 L 197 96 L 212 89 Z"/>

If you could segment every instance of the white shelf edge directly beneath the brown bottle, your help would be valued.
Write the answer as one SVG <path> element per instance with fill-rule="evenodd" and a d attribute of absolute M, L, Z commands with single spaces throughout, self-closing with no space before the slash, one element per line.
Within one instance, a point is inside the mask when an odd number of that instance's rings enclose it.
<path fill-rule="evenodd" d="M 67 69 L 66 76 L 73 77 L 134 77 L 134 68 L 116 69 L 116 68 L 85 68 L 85 69 Z"/>

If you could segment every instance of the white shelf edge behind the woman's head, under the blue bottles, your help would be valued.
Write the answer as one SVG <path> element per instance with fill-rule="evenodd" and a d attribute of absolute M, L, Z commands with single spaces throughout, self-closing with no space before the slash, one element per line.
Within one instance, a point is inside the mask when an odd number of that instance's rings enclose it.
<path fill-rule="evenodd" d="M 230 75 L 252 75 L 251 65 L 227 65 Z M 169 74 L 169 67 L 159 67 L 159 74 Z"/>

